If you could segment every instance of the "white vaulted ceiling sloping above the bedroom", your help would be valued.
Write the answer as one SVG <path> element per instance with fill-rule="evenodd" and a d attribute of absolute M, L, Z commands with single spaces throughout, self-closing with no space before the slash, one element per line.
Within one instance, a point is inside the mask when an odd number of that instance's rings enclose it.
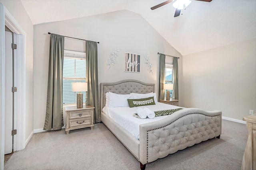
<path fill-rule="evenodd" d="M 181 55 L 256 38 L 256 0 L 192 0 L 174 18 L 165 0 L 21 0 L 32 23 L 68 20 L 118 10 L 140 14 Z"/>

